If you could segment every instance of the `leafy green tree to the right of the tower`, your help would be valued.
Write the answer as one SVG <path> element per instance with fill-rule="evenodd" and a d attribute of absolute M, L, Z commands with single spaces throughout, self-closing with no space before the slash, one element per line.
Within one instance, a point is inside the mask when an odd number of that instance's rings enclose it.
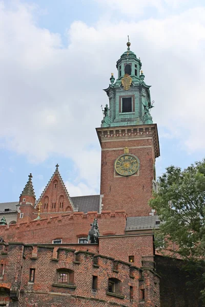
<path fill-rule="evenodd" d="M 186 259 L 187 274 L 196 273 L 196 282 L 204 287 L 205 159 L 184 170 L 168 167 L 159 177 L 158 192 L 153 193 L 150 206 L 161 221 L 155 246 L 162 254 Z M 202 300 L 205 303 L 204 290 Z"/>

